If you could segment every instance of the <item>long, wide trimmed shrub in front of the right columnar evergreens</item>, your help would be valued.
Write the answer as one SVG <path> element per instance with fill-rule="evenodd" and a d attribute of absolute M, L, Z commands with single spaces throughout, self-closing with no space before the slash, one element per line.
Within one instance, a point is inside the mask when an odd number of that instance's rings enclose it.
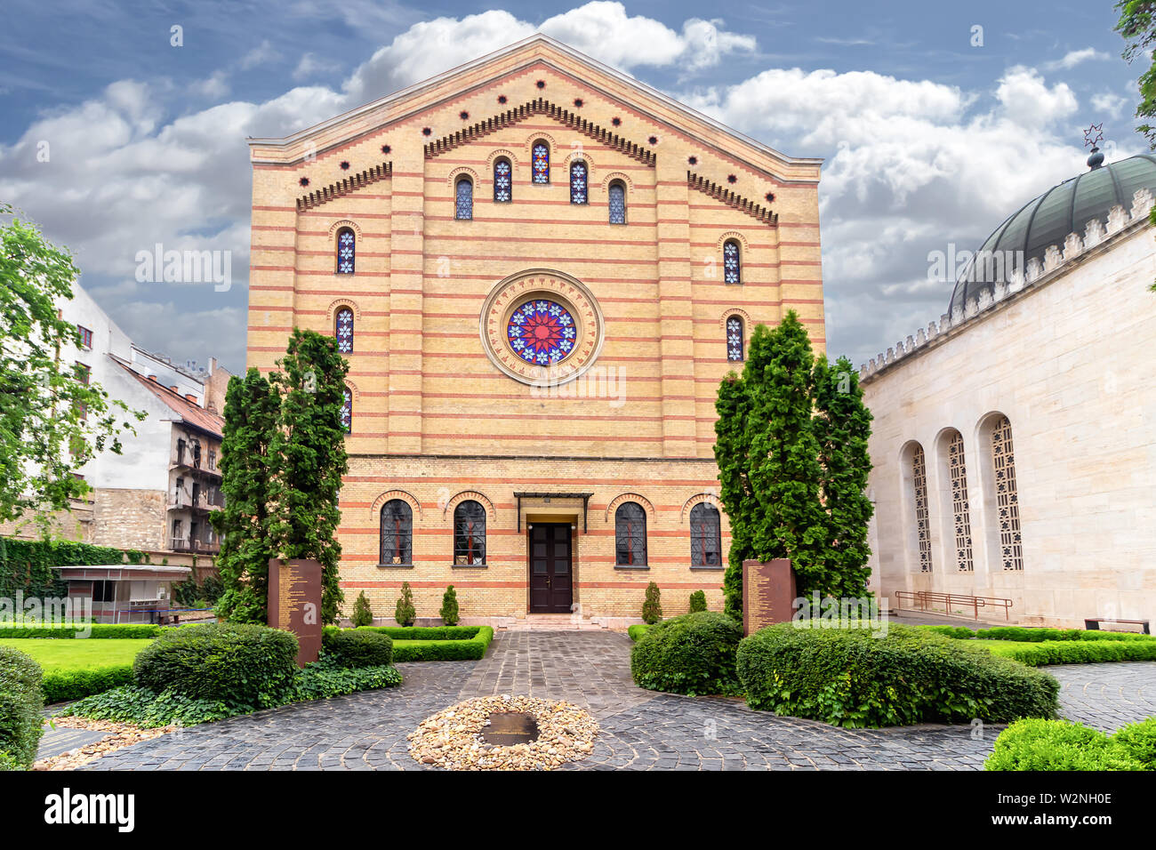
<path fill-rule="evenodd" d="M 739 646 L 739 678 L 754 709 L 840 726 L 1008 722 L 1053 717 L 1047 673 L 905 626 L 800 628 L 779 623 Z"/>

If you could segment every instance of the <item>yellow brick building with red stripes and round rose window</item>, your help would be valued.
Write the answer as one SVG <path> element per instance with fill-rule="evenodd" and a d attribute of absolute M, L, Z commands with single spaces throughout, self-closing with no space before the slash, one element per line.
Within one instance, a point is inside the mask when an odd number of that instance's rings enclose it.
<path fill-rule="evenodd" d="M 823 349 L 818 160 L 544 36 L 250 146 L 249 364 L 349 357 L 347 598 L 720 607 L 716 390 L 787 310 Z"/>

